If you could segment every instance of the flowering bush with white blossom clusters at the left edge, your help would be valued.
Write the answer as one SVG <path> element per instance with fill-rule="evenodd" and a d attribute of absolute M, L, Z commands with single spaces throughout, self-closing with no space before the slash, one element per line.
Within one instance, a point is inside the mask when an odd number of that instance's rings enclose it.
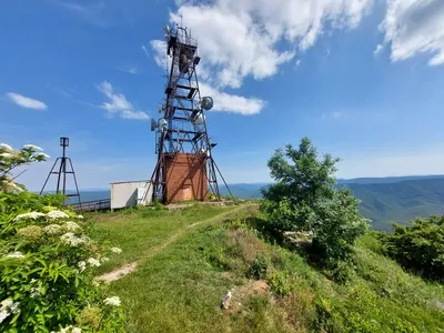
<path fill-rule="evenodd" d="M 36 148 L 23 149 L 34 155 Z M 117 248 L 92 240 L 90 223 L 63 210 L 62 195 L 20 189 L 0 188 L 0 331 L 123 331 L 120 299 L 105 295 L 94 280 L 105 254 L 115 255 Z"/>

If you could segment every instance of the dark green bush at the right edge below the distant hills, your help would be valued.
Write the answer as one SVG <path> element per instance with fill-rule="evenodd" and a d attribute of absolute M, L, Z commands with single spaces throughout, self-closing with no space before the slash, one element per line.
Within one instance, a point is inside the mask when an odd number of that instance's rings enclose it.
<path fill-rule="evenodd" d="M 393 225 L 385 238 L 386 252 L 401 265 L 424 278 L 444 282 L 444 215 Z"/>

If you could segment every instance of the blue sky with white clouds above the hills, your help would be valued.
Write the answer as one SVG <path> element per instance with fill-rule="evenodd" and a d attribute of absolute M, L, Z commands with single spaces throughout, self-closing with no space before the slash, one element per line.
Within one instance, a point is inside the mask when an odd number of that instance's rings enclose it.
<path fill-rule="evenodd" d="M 82 189 L 151 175 L 178 20 L 229 182 L 269 181 L 272 151 L 304 135 L 343 159 L 340 178 L 444 173 L 444 1 L 3 1 L 0 141 L 51 155 L 19 182 L 41 188 L 59 137 Z"/>

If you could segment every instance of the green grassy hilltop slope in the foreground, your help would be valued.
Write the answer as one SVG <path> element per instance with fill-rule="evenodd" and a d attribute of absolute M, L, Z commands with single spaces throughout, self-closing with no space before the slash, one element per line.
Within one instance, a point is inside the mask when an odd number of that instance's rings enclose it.
<path fill-rule="evenodd" d="M 444 301 L 443 286 L 377 254 L 371 235 L 357 246 L 356 273 L 336 284 L 297 254 L 258 238 L 242 223 L 254 214 L 255 208 L 246 206 L 101 215 L 98 232 L 125 251 L 111 265 L 140 263 L 137 272 L 111 283 L 129 311 L 129 331 L 444 332 L 443 311 L 432 305 Z M 198 221 L 204 222 L 184 228 Z M 255 292 L 246 278 L 259 254 L 269 262 L 271 292 Z M 232 306 L 222 311 L 228 290 Z"/>

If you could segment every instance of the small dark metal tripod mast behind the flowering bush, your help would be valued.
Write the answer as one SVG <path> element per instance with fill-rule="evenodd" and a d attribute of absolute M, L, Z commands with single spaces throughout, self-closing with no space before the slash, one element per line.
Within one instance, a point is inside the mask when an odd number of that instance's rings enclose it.
<path fill-rule="evenodd" d="M 72 161 L 70 158 L 67 158 L 67 147 L 69 147 L 69 138 L 60 138 L 60 145 L 63 148 L 63 154 L 61 158 L 57 158 L 54 164 L 51 168 L 51 171 L 49 172 L 47 180 L 44 181 L 44 184 L 40 191 L 40 195 L 43 193 L 44 188 L 48 184 L 48 181 L 51 176 L 51 174 L 57 174 L 57 193 L 62 193 L 65 196 L 77 196 L 78 198 L 78 202 L 79 204 L 81 204 L 80 202 L 80 192 L 79 192 L 79 186 L 77 183 L 77 179 L 75 179 L 75 172 L 74 172 L 74 168 L 72 167 Z M 59 168 L 56 168 L 57 164 L 60 162 Z M 68 165 L 69 163 L 69 165 Z M 67 169 L 67 167 L 69 167 Z M 73 194 L 67 194 L 67 174 L 72 174 L 73 180 L 74 180 L 74 184 L 75 184 L 75 193 Z"/>

